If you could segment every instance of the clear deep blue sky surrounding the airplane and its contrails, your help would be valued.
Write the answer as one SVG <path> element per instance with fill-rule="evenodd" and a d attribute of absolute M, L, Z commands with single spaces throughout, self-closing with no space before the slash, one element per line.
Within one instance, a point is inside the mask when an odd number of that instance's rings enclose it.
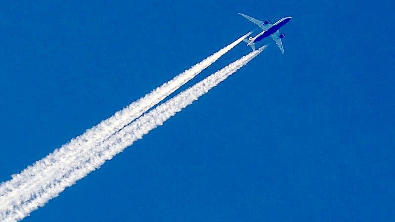
<path fill-rule="evenodd" d="M 255 28 L 271 46 L 26 222 L 393 222 L 394 2 L 0 3 L 0 181 Z M 236 46 L 195 80 L 250 51 Z M 186 88 L 183 89 L 186 89 Z"/>

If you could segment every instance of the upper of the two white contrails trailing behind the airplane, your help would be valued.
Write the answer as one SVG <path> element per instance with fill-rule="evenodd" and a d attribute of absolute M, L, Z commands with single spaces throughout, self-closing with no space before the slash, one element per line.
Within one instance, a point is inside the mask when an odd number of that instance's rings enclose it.
<path fill-rule="evenodd" d="M 0 185 L 0 206 L 4 205 L 2 200 L 11 201 L 13 198 L 19 198 L 21 190 L 26 191 L 34 186 L 35 183 L 41 183 L 43 178 L 46 178 L 48 175 L 57 173 L 61 165 L 67 165 L 66 163 L 74 161 L 77 157 L 86 155 L 92 147 L 103 142 L 113 133 L 121 130 L 151 107 L 155 106 L 171 93 L 175 92 L 186 82 L 217 61 L 223 54 L 239 44 L 249 34 L 250 33 L 242 36 L 235 42 L 225 46 L 218 52 L 192 66 L 190 69 L 180 73 L 171 81 L 164 83 L 157 89 L 154 89 L 144 97 L 128 105 L 123 110 L 116 112 L 110 118 L 103 120 L 82 135 L 72 139 L 70 142 L 66 143 L 59 149 L 56 149 L 42 160 L 36 161 L 34 165 L 27 167 L 21 173 L 12 175 L 11 180 L 3 182 Z"/>

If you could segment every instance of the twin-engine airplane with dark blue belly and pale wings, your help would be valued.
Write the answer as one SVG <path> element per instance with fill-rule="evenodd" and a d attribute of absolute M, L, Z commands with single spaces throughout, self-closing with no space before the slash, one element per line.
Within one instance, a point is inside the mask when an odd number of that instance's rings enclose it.
<path fill-rule="evenodd" d="M 284 54 L 284 47 L 281 42 L 281 39 L 285 37 L 285 33 L 280 34 L 279 29 L 283 25 L 285 25 L 287 22 L 289 22 L 289 20 L 291 20 L 291 18 L 292 18 L 291 16 L 284 17 L 284 18 L 278 20 L 276 23 L 270 24 L 269 19 L 267 19 L 265 21 L 260 21 L 258 19 L 253 18 L 253 17 L 250 17 L 248 15 L 245 15 L 242 13 L 239 13 L 239 14 L 241 16 L 243 16 L 244 18 L 250 20 L 251 22 L 255 23 L 263 30 L 263 32 L 256 35 L 255 37 L 249 37 L 248 39 L 243 40 L 244 42 L 247 43 L 247 45 L 251 46 L 253 51 L 255 51 L 255 43 L 261 41 L 263 38 L 270 36 L 274 40 L 274 42 L 277 44 L 277 46 L 280 48 L 281 52 Z"/>

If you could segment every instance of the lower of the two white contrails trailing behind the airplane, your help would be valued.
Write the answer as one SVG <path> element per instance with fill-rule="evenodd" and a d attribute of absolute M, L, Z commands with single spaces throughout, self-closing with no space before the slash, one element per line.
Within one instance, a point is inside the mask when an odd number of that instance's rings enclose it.
<path fill-rule="evenodd" d="M 106 160 L 112 159 L 117 153 L 122 152 L 126 147 L 140 139 L 144 134 L 162 125 L 177 112 L 197 100 L 201 95 L 208 92 L 228 76 L 246 65 L 251 59 L 263 51 L 266 46 L 251 52 L 248 55 L 236 60 L 225 68 L 219 70 L 193 87 L 179 93 L 172 99 L 144 114 L 118 133 L 108 138 L 104 143 L 95 147 L 95 152 L 90 154 L 88 160 L 80 161 L 80 164 L 72 166 L 68 172 L 59 170 L 59 174 L 45 187 L 40 187 L 31 196 L 20 195 L 20 199 L 8 206 L 0 207 L 1 221 L 18 221 L 28 216 L 30 212 L 37 209 L 53 197 L 56 197 L 66 187 L 73 185 L 77 180 L 84 178 L 91 171 L 99 168 Z"/>

